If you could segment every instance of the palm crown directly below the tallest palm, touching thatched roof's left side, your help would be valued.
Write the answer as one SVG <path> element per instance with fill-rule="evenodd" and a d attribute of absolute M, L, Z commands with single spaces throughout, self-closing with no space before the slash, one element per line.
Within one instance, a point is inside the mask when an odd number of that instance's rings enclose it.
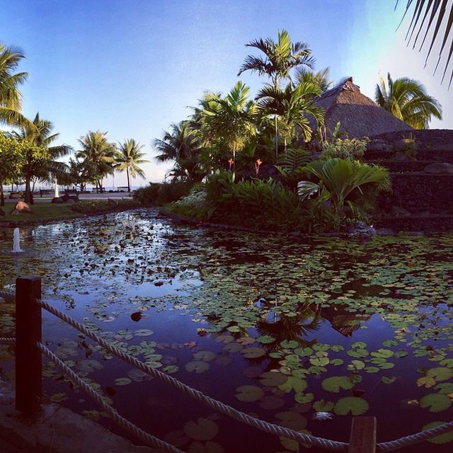
<path fill-rule="evenodd" d="M 314 98 L 320 94 L 321 88 L 313 80 L 301 81 L 294 89 L 291 84 L 287 84 L 285 89 L 267 84 L 258 93 L 258 110 L 263 115 L 274 115 L 280 120 L 285 154 L 289 139 L 301 135 L 305 142 L 311 139 L 309 116 L 314 117 L 318 125 L 323 125 L 324 112 L 314 104 Z"/>

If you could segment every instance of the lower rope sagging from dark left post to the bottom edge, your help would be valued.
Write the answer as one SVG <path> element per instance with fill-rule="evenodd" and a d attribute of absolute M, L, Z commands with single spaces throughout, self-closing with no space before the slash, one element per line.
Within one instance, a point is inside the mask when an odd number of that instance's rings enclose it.
<path fill-rule="evenodd" d="M 65 365 L 59 358 L 49 349 L 45 347 L 45 345 L 42 345 L 39 341 L 35 343 L 36 347 L 44 354 L 49 360 L 55 363 L 59 369 L 64 372 L 69 379 L 71 379 L 74 384 L 77 384 L 80 386 L 86 393 L 93 398 L 96 403 L 98 403 L 100 406 L 102 406 L 103 410 L 110 415 L 113 420 L 120 425 L 121 428 L 125 428 L 125 430 L 131 432 L 133 435 L 137 436 L 140 440 L 143 442 L 146 442 L 148 445 L 151 445 L 151 447 L 156 447 L 161 449 L 163 452 L 168 452 L 168 453 L 183 453 L 180 449 L 177 449 L 176 447 L 173 447 L 173 445 L 168 444 L 167 442 L 164 442 L 164 440 L 159 439 L 158 437 L 154 437 L 153 435 L 150 435 L 148 432 L 145 432 L 144 430 L 141 430 L 138 428 L 134 423 L 131 423 L 129 420 L 126 418 L 122 417 L 117 411 L 112 406 L 109 406 L 105 401 L 103 400 L 103 397 L 101 394 L 99 394 L 96 390 L 94 390 L 91 386 L 86 384 L 86 382 L 82 381 L 79 376 L 77 376 L 74 371 L 72 371 L 71 368 L 69 368 L 67 365 Z"/>

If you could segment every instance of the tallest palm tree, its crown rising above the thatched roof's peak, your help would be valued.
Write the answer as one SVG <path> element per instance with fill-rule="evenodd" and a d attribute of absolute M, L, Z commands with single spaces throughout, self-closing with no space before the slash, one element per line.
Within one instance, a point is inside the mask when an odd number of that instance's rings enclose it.
<path fill-rule="evenodd" d="M 263 52 L 265 58 L 248 55 L 244 60 L 238 76 L 243 71 L 256 71 L 260 76 L 267 75 L 272 80 L 275 89 L 279 88 L 280 80 L 289 79 L 291 69 L 306 66 L 313 68 L 314 58 L 305 42 L 292 42 L 287 30 L 278 31 L 277 42 L 272 38 L 253 40 L 246 44 Z M 275 155 L 278 154 L 278 126 L 277 115 L 275 122 Z"/>

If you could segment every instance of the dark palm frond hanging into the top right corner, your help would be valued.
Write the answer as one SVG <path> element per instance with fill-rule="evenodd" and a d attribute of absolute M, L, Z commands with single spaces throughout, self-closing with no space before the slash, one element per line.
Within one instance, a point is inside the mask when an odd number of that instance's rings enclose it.
<path fill-rule="evenodd" d="M 449 13 L 447 12 L 449 0 L 417 0 L 415 3 L 415 9 L 413 11 L 413 16 L 411 20 L 411 24 L 408 28 L 408 33 L 406 34 L 406 40 L 408 44 L 411 43 L 415 30 L 417 34 L 413 40 L 413 48 L 418 42 L 418 38 L 420 38 L 420 33 L 422 30 L 425 30 L 425 34 L 423 35 L 423 41 L 420 45 L 420 49 L 423 49 L 425 45 L 426 38 L 428 37 L 428 33 L 432 28 L 434 31 L 432 33 L 432 38 L 430 42 L 430 48 L 428 50 L 428 54 L 426 55 L 425 63 L 428 62 L 428 58 L 430 57 L 430 53 L 432 47 L 434 46 L 435 42 L 437 42 L 437 38 L 442 39 L 442 45 L 440 47 L 439 57 L 437 58 L 437 64 L 435 67 L 435 71 L 437 71 L 437 67 L 440 64 L 440 59 L 444 52 L 448 52 L 447 61 L 445 62 L 444 73 L 442 75 L 442 82 L 445 79 L 445 74 L 447 74 L 447 70 L 449 69 L 449 65 L 452 64 L 452 56 L 453 56 L 453 33 L 452 33 L 452 24 L 453 24 L 453 2 L 450 5 Z M 406 4 L 406 11 L 404 12 L 404 16 L 408 12 L 409 8 L 411 8 L 413 0 L 408 0 Z M 398 0 L 396 0 L 396 6 L 398 6 Z M 404 18 L 403 16 L 403 18 Z M 428 23 L 425 25 L 425 21 L 428 18 Z M 420 18 L 422 18 L 420 22 Z M 444 21 L 445 20 L 445 21 Z M 443 22 L 443 23 L 442 23 Z M 439 34 L 439 31 L 442 32 Z M 453 81 L 453 70 L 452 74 L 450 75 L 449 84 L 450 87 Z M 441 82 L 441 83 L 442 83 Z"/>

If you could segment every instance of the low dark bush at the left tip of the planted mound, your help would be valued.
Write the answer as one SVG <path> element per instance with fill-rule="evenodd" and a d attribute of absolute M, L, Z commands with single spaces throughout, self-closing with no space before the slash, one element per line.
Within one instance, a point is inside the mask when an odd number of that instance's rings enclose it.
<path fill-rule="evenodd" d="M 188 195 L 193 183 L 149 183 L 134 192 L 134 200 L 143 206 L 164 206 Z"/>

